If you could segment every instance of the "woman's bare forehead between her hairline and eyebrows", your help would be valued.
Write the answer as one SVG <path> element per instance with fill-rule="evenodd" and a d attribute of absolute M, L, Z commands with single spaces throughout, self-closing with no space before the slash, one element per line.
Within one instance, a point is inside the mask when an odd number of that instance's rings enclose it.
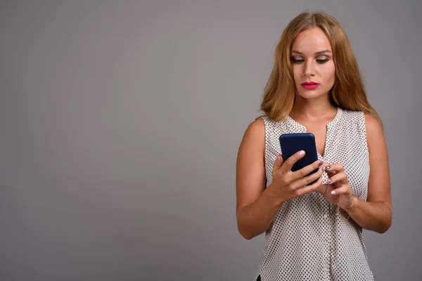
<path fill-rule="evenodd" d="M 332 51 L 330 41 L 319 27 L 299 32 L 295 41 L 293 41 L 292 50 L 302 53 L 315 53 L 321 50 Z"/>

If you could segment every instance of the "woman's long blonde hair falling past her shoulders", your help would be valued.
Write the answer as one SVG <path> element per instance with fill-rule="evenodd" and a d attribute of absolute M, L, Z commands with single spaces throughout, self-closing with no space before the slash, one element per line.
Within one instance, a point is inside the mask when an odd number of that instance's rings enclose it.
<path fill-rule="evenodd" d="M 344 110 L 363 111 L 383 125 L 381 117 L 369 104 L 352 46 L 340 23 L 323 12 L 304 12 L 291 20 L 274 51 L 274 67 L 264 88 L 261 110 L 279 122 L 289 115 L 295 101 L 295 81 L 290 67 L 290 48 L 299 32 L 319 27 L 333 48 L 335 82 L 329 92 L 333 105 Z M 265 116 L 264 115 L 264 116 Z"/>

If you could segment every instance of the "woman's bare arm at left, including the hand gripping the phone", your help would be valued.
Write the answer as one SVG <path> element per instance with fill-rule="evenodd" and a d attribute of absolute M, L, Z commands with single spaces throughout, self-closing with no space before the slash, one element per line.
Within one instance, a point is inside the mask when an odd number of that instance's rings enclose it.
<path fill-rule="evenodd" d="M 278 157 L 272 169 L 273 180 L 265 188 L 265 131 L 264 122 L 258 119 L 245 131 L 238 150 L 236 164 L 236 218 L 238 231 L 245 239 L 264 233 L 286 200 L 304 195 L 321 187 L 319 171 L 310 176 L 311 171 L 322 163 L 318 161 L 300 169 L 290 171 L 293 164 L 303 155 L 300 152 L 286 159 Z M 303 188 L 304 185 L 316 183 Z"/>

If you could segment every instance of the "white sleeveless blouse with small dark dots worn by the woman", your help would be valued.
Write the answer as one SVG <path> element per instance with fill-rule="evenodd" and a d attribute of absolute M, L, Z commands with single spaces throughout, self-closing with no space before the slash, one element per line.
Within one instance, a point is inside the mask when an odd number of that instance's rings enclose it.
<path fill-rule="evenodd" d="M 305 133 L 306 127 L 286 117 L 274 122 L 262 117 L 265 125 L 265 171 L 271 184 L 272 166 L 281 152 L 282 133 Z M 327 125 L 324 157 L 327 163 L 342 163 L 353 195 L 366 200 L 369 180 L 369 151 L 363 112 L 338 107 Z M 323 175 L 323 183 L 328 180 Z M 265 233 L 255 280 L 373 280 L 360 228 L 338 206 L 311 192 L 284 202 Z"/>

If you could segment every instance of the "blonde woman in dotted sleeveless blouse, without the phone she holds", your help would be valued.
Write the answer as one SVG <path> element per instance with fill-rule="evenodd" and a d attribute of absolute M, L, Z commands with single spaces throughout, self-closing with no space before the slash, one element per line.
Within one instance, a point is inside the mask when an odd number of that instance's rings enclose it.
<path fill-rule="evenodd" d="M 335 18 L 301 13 L 288 24 L 261 109 L 236 167 L 239 233 L 267 239 L 255 280 L 373 280 L 362 229 L 391 226 L 388 152 Z M 279 136 L 304 132 L 319 160 L 292 172 L 303 154 L 283 162 Z"/>

